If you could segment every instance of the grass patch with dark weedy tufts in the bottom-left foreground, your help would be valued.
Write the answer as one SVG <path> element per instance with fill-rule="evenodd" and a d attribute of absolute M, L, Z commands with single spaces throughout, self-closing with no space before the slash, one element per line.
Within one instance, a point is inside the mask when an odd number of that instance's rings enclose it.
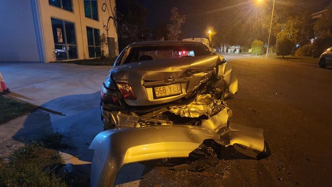
<path fill-rule="evenodd" d="M 66 145 L 60 133 L 45 136 L 41 142 L 30 141 L 0 157 L 0 186 L 80 186 L 82 178 L 66 173 L 58 150 L 75 149 Z M 53 148 L 53 149 L 51 149 Z"/>

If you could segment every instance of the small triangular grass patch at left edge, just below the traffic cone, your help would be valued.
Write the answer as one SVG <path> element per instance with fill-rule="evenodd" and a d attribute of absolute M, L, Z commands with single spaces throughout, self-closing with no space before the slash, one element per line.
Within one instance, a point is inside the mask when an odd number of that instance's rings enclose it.
<path fill-rule="evenodd" d="M 29 114 L 36 108 L 37 106 L 35 105 L 19 102 L 0 95 L 0 124 L 7 123 L 19 116 Z"/>

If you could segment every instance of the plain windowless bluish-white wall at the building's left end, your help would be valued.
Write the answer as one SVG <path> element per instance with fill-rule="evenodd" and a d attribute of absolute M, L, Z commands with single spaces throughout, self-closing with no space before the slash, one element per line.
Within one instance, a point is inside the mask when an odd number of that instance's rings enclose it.
<path fill-rule="evenodd" d="M 0 1 L 0 61 L 42 61 L 32 0 Z"/>

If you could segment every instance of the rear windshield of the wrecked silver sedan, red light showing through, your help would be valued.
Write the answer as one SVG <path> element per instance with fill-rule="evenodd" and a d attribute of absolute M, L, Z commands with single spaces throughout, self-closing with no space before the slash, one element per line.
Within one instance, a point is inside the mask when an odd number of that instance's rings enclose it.
<path fill-rule="evenodd" d="M 134 46 L 123 54 L 120 64 L 209 54 L 211 52 L 205 45 L 196 44 Z"/>

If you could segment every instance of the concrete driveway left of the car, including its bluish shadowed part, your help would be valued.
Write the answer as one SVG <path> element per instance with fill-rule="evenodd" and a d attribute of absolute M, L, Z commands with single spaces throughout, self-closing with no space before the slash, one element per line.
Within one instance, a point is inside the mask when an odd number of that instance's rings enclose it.
<path fill-rule="evenodd" d="M 69 63 L 0 62 L 0 73 L 11 96 L 44 107 L 42 112 L 50 114 L 53 130 L 68 135 L 78 148 L 70 154 L 82 155 L 80 159 L 87 161 L 91 157 L 87 148 L 93 137 L 102 131 L 100 87 L 110 68 Z M 14 120 L 21 123 L 14 136 L 31 133 L 36 123 L 27 122 L 30 115 Z"/>

